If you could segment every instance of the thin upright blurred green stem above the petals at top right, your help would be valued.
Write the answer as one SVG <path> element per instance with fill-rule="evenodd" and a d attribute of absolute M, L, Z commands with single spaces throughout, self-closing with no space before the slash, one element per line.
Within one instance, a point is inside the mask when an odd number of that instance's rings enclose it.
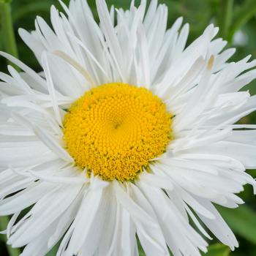
<path fill-rule="evenodd" d="M 227 39 L 230 25 L 233 16 L 233 0 L 222 0 L 221 1 L 221 13 L 219 16 L 219 27 L 220 34 L 224 39 Z"/>

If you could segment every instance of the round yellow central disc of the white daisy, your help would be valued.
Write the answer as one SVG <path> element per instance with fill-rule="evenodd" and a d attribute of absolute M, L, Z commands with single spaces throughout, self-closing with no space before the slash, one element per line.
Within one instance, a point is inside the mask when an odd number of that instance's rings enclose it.
<path fill-rule="evenodd" d="M 64 116 L 76 165 L 103 180 L 132 181 L 171 139 L 171 114 L 145 88 L 108 83 L 86 92 Z"/>

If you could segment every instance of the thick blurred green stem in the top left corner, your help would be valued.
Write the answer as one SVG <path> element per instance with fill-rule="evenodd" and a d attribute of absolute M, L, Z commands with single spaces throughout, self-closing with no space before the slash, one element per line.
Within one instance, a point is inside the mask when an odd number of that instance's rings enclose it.
<path fill-rule="evenodd" d="M 10 3 L 0 3 L 1 34 L 4 50 L 18 58 L 18 49 L 12 24 L 12 12 Z M 17 67 L 16 67 L 17 68 Z"/>

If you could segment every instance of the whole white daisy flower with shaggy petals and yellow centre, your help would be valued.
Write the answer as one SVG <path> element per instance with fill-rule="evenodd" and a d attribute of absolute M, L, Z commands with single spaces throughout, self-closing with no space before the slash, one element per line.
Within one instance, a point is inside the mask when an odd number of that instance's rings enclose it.
<path fill-rule="evenodd" d="M 200 255 L 216 236 L 238 246 L 214 204 L 236 208 L 254 179 L 256 109 L 243 86 L 250 56 L 214 39 L 210 25 L 191 45 L 189 25 L 167 29 L 167 7 L 141 1 L 108 11 L 99 25 L 86 0 L 51 7 L 20 29 L 42 66 L 0 74 L 0 216 L 23 256 Z M 249 71 L 246 71 L 250 69 Z M 24 212 L 23 210 L 26 211 Z M 189 219 L 192 223 L 189 223 Z"/>

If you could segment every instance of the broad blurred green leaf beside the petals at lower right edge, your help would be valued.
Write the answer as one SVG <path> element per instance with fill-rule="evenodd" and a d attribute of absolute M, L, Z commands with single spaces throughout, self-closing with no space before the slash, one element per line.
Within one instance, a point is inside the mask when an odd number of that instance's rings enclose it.
<path fill-rule="evenodd" d="M 256 244 L 256 211 L 248 206 L 240 206 L 236 209 L 220 206 L 217 208 L 234 233 Z"/>

